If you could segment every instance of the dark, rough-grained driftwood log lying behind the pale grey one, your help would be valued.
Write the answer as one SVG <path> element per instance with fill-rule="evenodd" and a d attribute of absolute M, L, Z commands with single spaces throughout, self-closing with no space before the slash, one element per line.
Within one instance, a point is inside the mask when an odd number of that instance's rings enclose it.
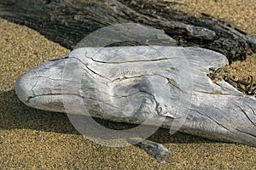
<path fill-rule="evenodd" d="M 225 26 L 224 20 L 190 17 L 172 9 L 172 3 L 159 0 L 1 0 L 0 17 L 30 26 L 67 48 L 73 48 L 83 37 L 103 26 L 135 22 L 163 29 L 179 45 L 218 51 L 229 61 L 245 59 L 251 51 L 256 52 L 255 39 Z"/>

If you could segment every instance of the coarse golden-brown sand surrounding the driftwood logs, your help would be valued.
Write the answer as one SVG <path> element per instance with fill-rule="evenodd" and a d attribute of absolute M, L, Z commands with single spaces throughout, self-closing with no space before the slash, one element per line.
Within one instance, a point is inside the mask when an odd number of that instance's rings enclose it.
<path fill-rule="evenodd" d="M 180 0 L 176 8 L 189 14 L 210 14 L 233 22 L 256 37 L 254 0 Z M 197 2 L 197 3 L 195 3 Z M 206 3 L 210 2 L 210 3 Z M 217 2 L 217 3 L 216 3 Z M 15 80 L 35 65 L 69 50 L 37 31 L 0 20 L 0 169 L 256 169 L 256 148 L 228 144 L 160 129 L 150 139 L 172 152 L 159 164 L 134 146 L 111 148 L 81 136 L 61 113 L 38 111 L 15 95 Z M 236 62 L 232 74 L 253 73 L 255 56 Z M 247 59 L 247 60 L 248 60 Z M 241 65 L 243 65 L 241 67 Z M 250 68 L 250 69 L 247 69 Z M 255 71 L 255 70 L 254 70 Z M 243 75 L 246 76 L 246 75 Z M 113 126 L 118 124 L 110 123 Z"/>

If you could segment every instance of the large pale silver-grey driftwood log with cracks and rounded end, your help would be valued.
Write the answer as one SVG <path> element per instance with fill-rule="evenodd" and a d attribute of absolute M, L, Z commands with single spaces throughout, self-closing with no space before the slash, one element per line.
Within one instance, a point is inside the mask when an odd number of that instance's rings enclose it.
<path fill-rule="evenodd" d="M 256 146 L 256 99 L 207 77 L 224 65 L 224 55 L 202 48 L 77 48 L 26 72 L 15 90 L 46 111 L 151 125 L 165 117 L 161 127 L 171 131 L 181 125 L 184 133 Z"/>

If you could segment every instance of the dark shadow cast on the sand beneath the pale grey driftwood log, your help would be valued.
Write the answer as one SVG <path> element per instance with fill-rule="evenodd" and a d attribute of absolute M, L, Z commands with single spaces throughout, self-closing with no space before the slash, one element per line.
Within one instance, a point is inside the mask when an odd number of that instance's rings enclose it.
<path fill-rule="evenodd" d="M 79 134 L 72 123 L 69 122 L 67 114 L 32 109 L 20 102 L 14 89 L 2 92 L 0 94 L 0 101 L 2 103 L 0 107 L 0 130 L 26 128 L 44 132 Z M 101 119 L 95 120 L 103 126 L 113 129 L 127 129 L 135 126 Z M 149 139 L 161 144 L 218 143 L 218 141 L 184 133 L 177 132 L 171 135 L 169 130 L 164 128 L 158 129 Z"/>

